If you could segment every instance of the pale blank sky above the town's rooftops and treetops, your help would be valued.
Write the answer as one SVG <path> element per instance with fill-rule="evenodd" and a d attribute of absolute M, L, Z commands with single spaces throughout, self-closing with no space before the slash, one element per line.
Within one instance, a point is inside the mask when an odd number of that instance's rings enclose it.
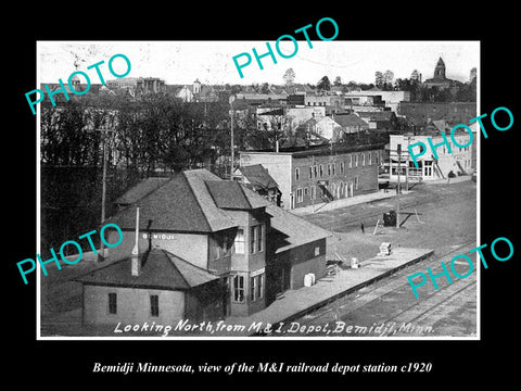
<path fill-rule="evenodd" d="M 127 77 L 160 77 L 166 84 L 276 84 L 282 85 L 288 68 L 295 72 L 295 83 L 317 84 L 328 76 L 331 81 L 340 76 L 343 83 L 374 83 L 374 72 L 391 70 L 395 78 L 408 78 L 414 70 L 422 79 L 433 77 L 434 66 L 441 56 L 446 65 L 446 76 L 468 81 L 472 67 L 480 68 L 479 41 L 297 41 L 296 54 L 291 59 L 280 56 L 275 41 L 269 41 L 276 59 L 262 59 L 259 70 L 252 49 L 260 55 L 267 52 L 266 41 L 38 41 L 38 83 L 64 83 L 75 71 L 87 73 L 91 83 L 100 83 L 96 70 L 89 65 L 104 61 L 100 66 L 105 80 L 115 79 L 107 63 L 114 54 L 125 54 L 131 71 Z M 280 50 L 294 51 L 291 40 L 280 42 Z M 232 58 L 247 52 L 249 66 L 242 68 L 241 78 Z M 238 59 L 242 64 L 245 56 Z M 126 64 L 116 58 L 114 70 L 124 73 Z M 38 73 L 38 72 L 37 72 Z M 80 76 L 81 83 L 84 79 Z"/>

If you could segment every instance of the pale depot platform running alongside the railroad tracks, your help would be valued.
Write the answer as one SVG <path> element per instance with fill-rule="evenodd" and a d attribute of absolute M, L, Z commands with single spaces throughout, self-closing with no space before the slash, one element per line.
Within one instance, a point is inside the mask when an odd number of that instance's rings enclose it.
<path fill-rule="evenodd" d="M 417 263 L 434 253 L 434 250 L 396 248 L 389 256 L 376 256 L 360 263 L 357 269 L 340 269 L 335 276 L 319 279 L 312 287 L 290 290 L 268 307 L 249 317 L 228 317 L 224 325 L 234 326 L 233 331 L 196 333 L 198 337 L 246 337 L 254 336 L 268 325 L 290 323 L 328 302 L 359 290 L 381 278 Z M 405 282 L 405 280 L 404 280 Z M 258 325 L 262 326 L 258 326 Z M 237 331 L 237 326 L 244 326 Z M 194 335 L 195 336 L 195 335 Z M 277 336 L 274 333 L 274 336 Z M 189 337 L 189 335 L 187 336 Z"/>

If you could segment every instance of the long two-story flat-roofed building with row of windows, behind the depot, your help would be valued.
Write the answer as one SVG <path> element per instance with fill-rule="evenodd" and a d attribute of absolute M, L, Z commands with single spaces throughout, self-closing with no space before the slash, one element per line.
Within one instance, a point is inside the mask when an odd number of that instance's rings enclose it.
<path fill-rule="evenodd" d="M 287 210 L 378 191 L 384 143 L 342 143 L 279 152 L 243 151 L 240 165 L 262 164 L 279 185 Z"/>

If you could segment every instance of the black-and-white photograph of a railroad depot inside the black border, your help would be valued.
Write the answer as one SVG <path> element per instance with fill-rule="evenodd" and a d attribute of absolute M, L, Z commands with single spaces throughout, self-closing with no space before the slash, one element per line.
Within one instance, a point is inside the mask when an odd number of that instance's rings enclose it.
<path fill-rule="evenodd" d="M 37 42 L 38 339 L 479 338 L 480 42 L 294 36 Z"/>

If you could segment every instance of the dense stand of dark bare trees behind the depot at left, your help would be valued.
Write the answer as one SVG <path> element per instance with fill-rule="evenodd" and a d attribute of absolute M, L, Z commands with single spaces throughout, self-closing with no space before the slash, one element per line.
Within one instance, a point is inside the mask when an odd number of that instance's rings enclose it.
<path fill-rule="evenodd" d="M 187 103 L 156 93 L 42 103 L 42 251 L 100 225 L 104 148 L 110 216 L 112 202 L 144 177 L 200 167 L 229 175 L 231 116 L 237 151 L 274 146 L 279 129 L 256 131 L 253 115 L 230 112 L 228 102 Z"/>

